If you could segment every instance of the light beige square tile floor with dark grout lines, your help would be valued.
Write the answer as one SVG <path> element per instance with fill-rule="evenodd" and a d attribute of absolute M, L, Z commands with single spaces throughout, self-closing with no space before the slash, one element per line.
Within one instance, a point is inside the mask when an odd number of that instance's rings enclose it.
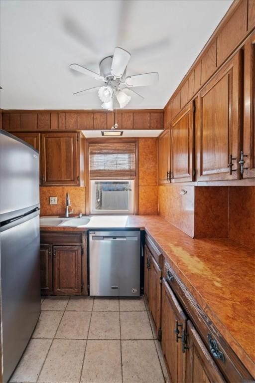
<path fill-rule="evenodd" d="M 168 382 L 143 297 L 47 297 L 11 383 Z"/>

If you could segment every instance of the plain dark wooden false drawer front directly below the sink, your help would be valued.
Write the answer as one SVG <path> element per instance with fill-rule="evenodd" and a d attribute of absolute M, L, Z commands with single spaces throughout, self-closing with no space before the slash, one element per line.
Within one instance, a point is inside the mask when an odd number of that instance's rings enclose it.
<path fill-rule="evenodd" d="M 82 233 L 61 231 L 40 231 L 40 242 L 54 245 L 76 245 L 82 243 Z"/>

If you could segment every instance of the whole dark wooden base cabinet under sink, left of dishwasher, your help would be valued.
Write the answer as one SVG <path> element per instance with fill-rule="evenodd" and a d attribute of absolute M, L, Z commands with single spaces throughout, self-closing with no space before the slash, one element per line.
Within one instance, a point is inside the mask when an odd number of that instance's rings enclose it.
<path fill-rule="evenodd" d="M 42 295 L 88 295 L 87 234 L 40 231 Z"/>

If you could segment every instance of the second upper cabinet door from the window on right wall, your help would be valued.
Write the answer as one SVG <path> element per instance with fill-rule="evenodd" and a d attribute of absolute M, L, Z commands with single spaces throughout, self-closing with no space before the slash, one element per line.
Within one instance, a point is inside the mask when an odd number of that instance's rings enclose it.
<path fill-rule="evenodd" d="M 171 124 L 171 182 L 193 180 L 193 103 Z"/>

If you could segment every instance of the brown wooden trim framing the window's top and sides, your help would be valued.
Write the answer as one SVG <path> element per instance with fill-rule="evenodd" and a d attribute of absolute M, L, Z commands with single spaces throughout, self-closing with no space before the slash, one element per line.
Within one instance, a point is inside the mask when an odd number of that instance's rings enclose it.
<path fill-rule="evenodd" d="M 86 177 L 86 215 L 92 214 L 90 211 L 90 174 L 89 174 L 89 145 L 98 143 L 116 143 L 116 140 L 121 140 L 123 143 L 134 143 L 135 144 L 135 177 L 134 177 L 134 209 L 133 214 L 126 215 L 137 215 L 138 214 L 138 180 L 139 180 L 139 140 L 138 139 L 127 139 L 124 137 L 116 138 L 97 138 L 97 139 L 86 139 L 86 152 L 85 152 L 85 177 Z"/>

